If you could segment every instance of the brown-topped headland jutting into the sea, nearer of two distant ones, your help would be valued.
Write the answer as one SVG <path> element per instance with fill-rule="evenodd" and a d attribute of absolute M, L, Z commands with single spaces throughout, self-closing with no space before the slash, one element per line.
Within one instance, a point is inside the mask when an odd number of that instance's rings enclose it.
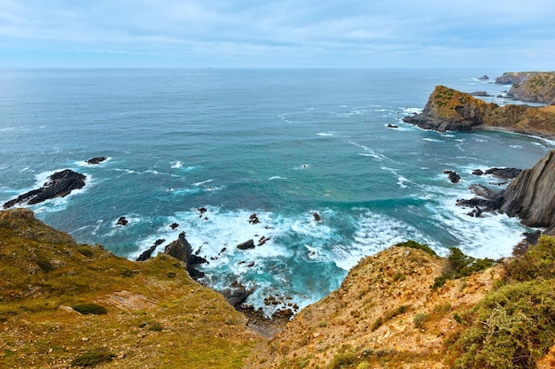
<path fill-rule="evenodd" d="M 555 135 L 555 106 L 499 106 L 452 88 L 437 86 L 424 111 L 403 119 L 424 129 L 470 131 L 507 129 L 527 135 Z"/>

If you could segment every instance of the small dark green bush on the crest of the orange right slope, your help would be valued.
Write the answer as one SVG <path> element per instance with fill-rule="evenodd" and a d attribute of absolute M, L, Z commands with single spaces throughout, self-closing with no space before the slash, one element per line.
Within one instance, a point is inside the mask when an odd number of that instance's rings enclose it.
<path fill-rule="evenodd" d="M 489 258 L 473 258 L 465 255 L 456 247 L 449 249 L 449 257 L 446 259 L 442 275 L 435 278 L 432 289 L 441 288 L 446 281 L 467 277 L 473 273 L 487 269 L 494 264 Z"/>

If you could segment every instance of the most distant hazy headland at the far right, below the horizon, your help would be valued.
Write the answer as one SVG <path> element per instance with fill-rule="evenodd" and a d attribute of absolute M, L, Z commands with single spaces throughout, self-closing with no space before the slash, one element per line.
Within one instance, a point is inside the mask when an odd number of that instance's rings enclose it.
<path fill-rule="evenodd" d="M 510 83 L 507 96 L 543 104 L 555 104 L 555 72 L 504 73 L 496 83 Z"/>

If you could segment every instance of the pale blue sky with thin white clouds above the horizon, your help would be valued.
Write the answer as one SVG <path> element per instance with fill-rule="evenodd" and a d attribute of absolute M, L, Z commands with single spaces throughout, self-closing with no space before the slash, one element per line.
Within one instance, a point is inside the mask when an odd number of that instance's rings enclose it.
<path fill-rule="evenodd" d="M 555 70 L 553 0 L 0 0 L 0 67 Z"/>

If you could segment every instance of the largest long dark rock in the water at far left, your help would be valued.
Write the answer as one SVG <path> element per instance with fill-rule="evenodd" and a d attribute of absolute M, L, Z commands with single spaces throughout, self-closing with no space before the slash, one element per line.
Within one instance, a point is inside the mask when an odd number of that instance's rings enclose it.
<path fill-rule="evenodd" d="M 65 197 L 74 189 L 85 186 L 85 175 L 75 173 L 70 169 L 53 173 L 49 181 L 42 188 L 33 189 L 4 204 L 4 209 L 11 208 L 15 204 L 39 204 L 54 197 Z"/>

